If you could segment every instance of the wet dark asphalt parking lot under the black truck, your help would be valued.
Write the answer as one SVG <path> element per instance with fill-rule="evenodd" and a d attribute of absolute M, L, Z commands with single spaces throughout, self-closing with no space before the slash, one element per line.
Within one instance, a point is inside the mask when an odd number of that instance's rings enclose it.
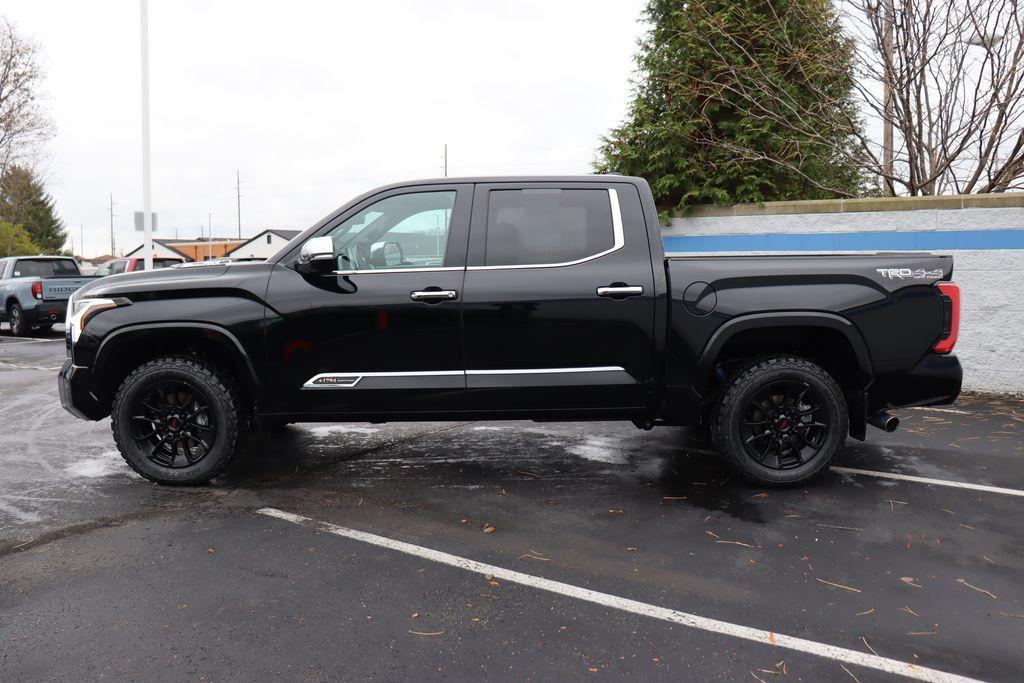
<path fill-rule="evenodd" d="M 292 426 L 167 488 L 62 411 L 61 334 L 0 331 L 0 680 L 1024 678 L 1024 400 L 784 490 L 528 422 Z"/>

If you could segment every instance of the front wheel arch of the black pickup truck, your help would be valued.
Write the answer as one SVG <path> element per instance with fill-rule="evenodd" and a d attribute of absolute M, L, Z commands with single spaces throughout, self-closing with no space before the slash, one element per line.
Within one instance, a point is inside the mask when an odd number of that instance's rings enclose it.
<path fill-rule="evenodd" d="M 93 361 L 93 394 L 110 408 L 118 386 L 132 370 L 162 355 L 182 354 L 223 366 L 250 399 L 259 395 L 259 377 L 245 347 L 228 330 L 207 323 L 144 323 L 106 335 Z"/>

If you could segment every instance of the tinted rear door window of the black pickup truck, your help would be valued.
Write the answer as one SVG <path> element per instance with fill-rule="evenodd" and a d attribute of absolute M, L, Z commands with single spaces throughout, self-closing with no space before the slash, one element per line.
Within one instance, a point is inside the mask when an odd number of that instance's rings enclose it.
<path fill-rule="evenodd" d="M 615 245 L 607 189 L 493 189 L 484 265 L 546 265 Z"/>

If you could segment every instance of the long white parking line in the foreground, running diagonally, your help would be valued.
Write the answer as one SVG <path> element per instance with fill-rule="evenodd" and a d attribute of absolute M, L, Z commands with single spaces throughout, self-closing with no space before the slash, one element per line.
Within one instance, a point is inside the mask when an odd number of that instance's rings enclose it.
<path fill-rule="evenodd" d="M 552 581 L 551 579 L 544 579 L 542 577 L 535 577 L 534 574 L 522 573 L 521 571 L 506 569 L 505 567 L 500 567 L 494 564 L 484 564 L 483 562 L 477 562 L 476 560 L 460 557 L 459 555 L 452 555 L 439 550 L 416 546 L 403 541 L 395 541 L 383 536 L 377 536 L 376 533 L 368 533 L 367 531 L 359 531 L 345 526 L 329 524 L 310 517 L 285 512 L 275 508 L 263 508 L 261 510 L 257 510 L 256 512 L 257 514 L 266 515 L 267 517 L 275 517 L 278 519 L 292 522 L 293 524 L 300 524 L 309 528 L 328 531 L 353 541 L 359 541 L 361 543 L 368 543 L 380 548 L 394 550 L 399 553 L 406 553 L 407 555 L 413 555 L 425 560 L 439 562 L 440 564 L 447 564 L 449 566 L 457 567 L 459 569 L 465 569 L 467 571 L 473 571 L 484 575 L 489 574 L 496 579 L 502 579 L 513 584 L 520 584 L 522 586 L 528 586 L 542 591 L 548 591 L 549 593 L 555 593 L 557 595 L 563 595 L 578 600 L 593 602 L 604 607 L 621 609 L 634 614 L 640 614 L 641 616 L 649 616 L 664 622 L 681 624 L 692 629 L 700 629 L 701 631 L 709 631 L 711 633 L 732 636 L 734 638 L 742 638 L 744 640 L 751 640 L 763 645 L 784 647 L 791 650 L 813 654 L 815 656 L 856 665 L 858 667 L 866 667 L 868 669 L 884 671 L 889 674 L 905 676 L 919 681 L 941 681 L 943 683 L 947 681 L 975 681 L 975 679 L 965 678 L 963 676 L 957 676 L 956 674 L 949 674 L 936 669 L 919 667 L 918 665 L 900 661 L 898 659 L 890 659 L 876 654 L 867 654 L 866 652 L 846 649 L 845 647 L 837 647 L 835 645 L 818 643 L 813 640 L 805 640 L 804 638 L 796 638 L 794 636 L 772 633 L 770 631 L 762 631 L 761 629 L 754 629 L 748 626 L 740 626 L 738 624 L 730 624 L 729 622 L 709 618 L 707 616 L 689 614 L 687 612 L 669 609 L 668 607 L 658 607 L 657 605 L 639 602 L 637 600 L 630 600 L 629 598 L 622 598 L 608 593 L 600 593 L 587 588 L 572 586 L 571 584 L 563 584 L 562 582 Z"/>

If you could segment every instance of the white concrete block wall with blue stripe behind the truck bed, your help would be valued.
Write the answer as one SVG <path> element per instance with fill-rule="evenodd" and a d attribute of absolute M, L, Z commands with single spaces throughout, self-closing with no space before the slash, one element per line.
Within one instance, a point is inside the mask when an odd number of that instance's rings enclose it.
<path fill-rule="evenodd" d="M 1024 196 L 987 204 L 970 198 L 958 206 L 957 198 L 930 199 L 944 205 L 886 199 L 709 207 L 674 218 L 665 246 L 669 253 L 708 255 L 951 254 L 963 297 L 955 353 L 964 389 L 1024 395 Z"/>

